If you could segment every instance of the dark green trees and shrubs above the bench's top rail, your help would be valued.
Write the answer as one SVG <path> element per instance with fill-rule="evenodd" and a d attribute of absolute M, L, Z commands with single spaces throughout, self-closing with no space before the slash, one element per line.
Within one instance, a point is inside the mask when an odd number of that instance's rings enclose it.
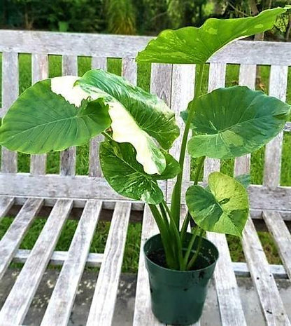
<path fill-rule="evenodd" d="M 157 34 L 200 26 L 211 17 L 246 17 L 286 4 L 290 0 L 0 0 L 0 28 Z M 290 15 L 283 15 L 267 37 L 288 41 Z"/>

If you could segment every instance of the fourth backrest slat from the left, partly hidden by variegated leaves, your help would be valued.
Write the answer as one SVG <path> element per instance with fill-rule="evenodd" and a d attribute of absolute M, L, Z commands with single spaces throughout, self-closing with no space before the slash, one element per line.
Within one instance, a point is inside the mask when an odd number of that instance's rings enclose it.
<path fill-rule="evenodd" d="M 107 70 L 106 57 L 92 57 L 92 69 Z M 98 135 L 90 140 L 89 149 L 89 176 L 101 177 L 102 171 L 99 162 L 99 144 L 104 140 L 104 136 Z"/>

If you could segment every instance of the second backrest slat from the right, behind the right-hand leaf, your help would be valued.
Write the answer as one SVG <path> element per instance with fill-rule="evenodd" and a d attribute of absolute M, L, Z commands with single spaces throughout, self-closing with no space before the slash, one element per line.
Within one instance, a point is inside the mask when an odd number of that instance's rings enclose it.
<path fill-rule="evenodd" d="M 255 64 L 241 64 L 239 69 L 239 85 L 248 86 L 255 90 L 255 77 L 257 66 Z M 250 154 L 234 160 L 234 174 L 248 174 L 250 172 Z"/>

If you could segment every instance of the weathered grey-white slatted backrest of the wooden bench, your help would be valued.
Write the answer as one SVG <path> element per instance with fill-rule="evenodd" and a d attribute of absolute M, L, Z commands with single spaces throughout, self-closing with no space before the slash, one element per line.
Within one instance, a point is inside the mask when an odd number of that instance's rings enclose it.
<path fill-rule="evenodd" d="M 122 76 L 136 83 L 137 66 L 134 57 L 151 38 L 148 36 L 113 36 L 102 34 L 70 34 L 53 32 L 0 31 L 0 53 L 2 53 L 2 117 L 19 94 L 19 53 L 32 56 L 32 83 L 48 76 L 48 55 L 62 55 L 62 74 L 78 74 L 78 56 L 92 57 L 92 67 L 106 69 L 107 58 L 122 58 Z M 240 64 L 239 84 L 255 88 L 256 67 L 270 65 L 269 95 L 286 99 L 288 86 L 288 66 L 291 65 L 291 43 L 235 41 L 215 54 L 210 60 L 208 90 L 225 86 L 227 64 Z M 162 97 L 177 116 L 185 109 L 194 92 L 195 66 L 189 64 L 152 64 L 150 90 Z M 291 81 L 289 81 L 291 82 Z M 180 118 L 179 123 L 182 125 Z M 291 130 L 290 123 L 285 131 Z M 41 196 L 44 198 L 101 198 L 105 201 L 122 200 L 106 184 L 101 176 L 98 159 L 98 144 L 101 137 L 90 142 L 89 170 L 87 176 L 75 176 L 76 148 L 60 153 L 59 175 L 45 175 L 46 156 L 31 156 L 30 173 L 17 173 L 17 153 L 1 149 L 0 195 Z M 278 210 L 291 211 L 290 189 L 279 187 L 281 179 L 281 156 L 283 133 L 269 143 L 265 149 L 264 187 L 252 186 L 252 207 L 260 214 L 262 208 L 274 208 L 268 196 L 274 189 Z M 171 153 L 178 156 L 180 140 Z M 238 158 L 234 170 L 243 166 L 247 171 L 250 156 Z M 219 170 L 218 160 L 208 160 L 204 176 L 210 170 Z M 190 180 L 190 158 L 187 158 L 185 182 Z M 164 182 L 162 187 L 169 200 L 173 182 Z M 280 193 L 281 191 L 281 193 Z M 273 196 L 273 195 L 272 195 Z M 285 196 L 283 201 L 282 196 Z M 279 203 L 280 202 L 280 203 Z M 283 205 L 282 205 L 283 204 Z M 136 208 L 142 207 L 136 203 Z M 268 206 L 269 205 L 269 206 Z M 276 206 L 277 207 L 277 206 Z M 277 208 L 275 208 L 277 209 Z"/>

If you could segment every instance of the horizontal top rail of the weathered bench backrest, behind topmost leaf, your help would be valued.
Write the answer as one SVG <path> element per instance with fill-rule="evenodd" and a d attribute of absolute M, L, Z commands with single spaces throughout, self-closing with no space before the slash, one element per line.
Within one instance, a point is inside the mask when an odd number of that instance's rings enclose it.
<path fill-rule="evenodd" d="M 48 53 L 102 57 L 136 57 L 150 36 L 0 30 L 0 52 Z M 290 65 L 290 43 L 234 41 L 211 62 Z"/>

